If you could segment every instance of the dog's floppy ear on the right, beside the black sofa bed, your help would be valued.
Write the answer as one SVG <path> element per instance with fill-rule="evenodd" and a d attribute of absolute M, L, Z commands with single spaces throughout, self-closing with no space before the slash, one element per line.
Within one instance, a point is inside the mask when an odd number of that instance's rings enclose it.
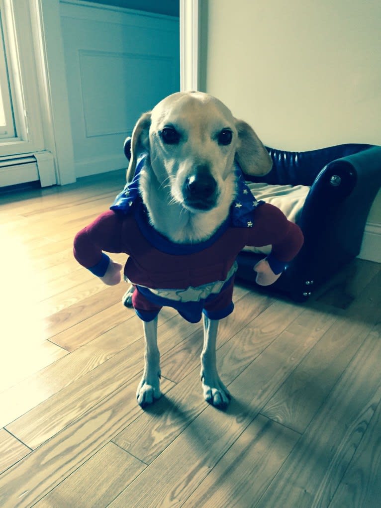
<path fill-rule="evenodd" d="M 238 145 L 235 158 L 243 173 L 251 176 L 266 175 L 272 167 L 272 160 L 262 141 L 243 120 L 236 119 L 236 129 Z"/>

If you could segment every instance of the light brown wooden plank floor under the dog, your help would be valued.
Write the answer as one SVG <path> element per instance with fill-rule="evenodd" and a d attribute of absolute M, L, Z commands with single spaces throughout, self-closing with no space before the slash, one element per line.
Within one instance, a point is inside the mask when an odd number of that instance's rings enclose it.
<path fill-rule="evenodd" d="M 72 256 L 122 186 L 0 196 L 0 506 L 381 506 L 381 265 L 355 260 L 303 305 L 237 284 L 226 412 L 202 397 L 201 324 L 162 311 L 164 396 L 143 411 L 125 284 Z"/>

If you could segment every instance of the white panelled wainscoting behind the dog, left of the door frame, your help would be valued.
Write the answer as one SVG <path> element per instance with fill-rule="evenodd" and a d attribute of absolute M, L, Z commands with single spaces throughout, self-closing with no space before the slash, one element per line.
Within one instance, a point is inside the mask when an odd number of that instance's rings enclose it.
<path fill-rule="evenodd" d="M 126 166 L 141 113 L 180 88 L 179 19 L 60 4 L 76 177 Z"/>

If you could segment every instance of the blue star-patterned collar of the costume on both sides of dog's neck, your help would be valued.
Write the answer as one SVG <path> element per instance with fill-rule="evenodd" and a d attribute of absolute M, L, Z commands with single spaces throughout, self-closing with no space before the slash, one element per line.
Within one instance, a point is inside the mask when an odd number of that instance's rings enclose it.
<path fill-rule="evenodd" d="M 128 214 L 133 208 L 134 203 L 140 203 L 139 192 L 140 172 L 144 167 L 146 155 L 140 157 L 136 166 L 135 176 L 132 182 L 125 185 L 124 189 L 115 198 L 110 206 L 111 210 Z M 236 175 L 237 193 L 230 207 L 230 225 L 235 228 L 251 228 L 254 224 L 254 211 L 263 201 L 257 201 L 251 194 L 251 190 L 245 182 L 241 168 L 237 162 L 234 163 L 234 172 Z"/>

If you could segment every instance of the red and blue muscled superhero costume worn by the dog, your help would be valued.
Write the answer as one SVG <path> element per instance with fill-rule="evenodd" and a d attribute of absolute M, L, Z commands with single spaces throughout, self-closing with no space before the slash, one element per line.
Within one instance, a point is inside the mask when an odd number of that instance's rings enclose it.
<path fill-rule="evenodd" d="M 238 198 L 242 191 L 247 195 L 241 185 Z M 164 305 L 174 307 L 190 322 L 198 322 L 202 312 L 210 319 L 221 319 L 233 310 L 235 259 L 245 245 L 272 244 L 267 260 L 274 273 L 280 273 L 303 243 L 297 225 L 278 208 L 256 202 L 251 194 L 252 209 L 249 216 L 244 215 L 245 227 L 237 227 L 230 214 L 208 240 L 174 243 L 149 225 L 140 196 L 131 197 L 130 190 L 128 194 L 128 206 L 113 206 L 76 235 L 74 256 L 103 276 L 109 262 L 103 251 L 125 252 L 129 258 L 124 276 L 136 286 L 133 305 L 144 321 L 154 319 Z"/>

